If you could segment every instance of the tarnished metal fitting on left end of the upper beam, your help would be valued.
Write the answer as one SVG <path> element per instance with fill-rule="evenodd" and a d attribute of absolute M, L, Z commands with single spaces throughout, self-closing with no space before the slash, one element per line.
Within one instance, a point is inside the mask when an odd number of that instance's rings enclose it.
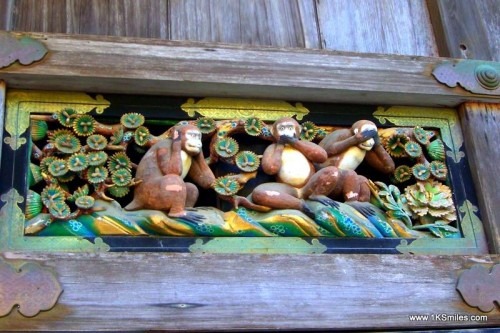
<path fill-rule="evenodd" d="M 18 39 L 12 33 L 0 32 L 0 68 L 16 61 L 21 65 L 29 65 L 41 60 L 47 52 L 47 48 L 36 39 L 28 36 Z"/>

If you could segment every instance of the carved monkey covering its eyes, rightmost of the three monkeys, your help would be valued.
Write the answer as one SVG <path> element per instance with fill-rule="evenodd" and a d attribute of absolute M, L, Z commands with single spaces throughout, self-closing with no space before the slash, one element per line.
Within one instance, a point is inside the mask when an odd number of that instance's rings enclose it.
<path fill-rule="evenodd" d="M 363 161 L 381 173 L 394 172 L 394 161 L 380 144 L 377 126 L 371 121 L 359 120 L 350 129 L 333 131 L 319 145 L 328 154 L 319 168 L 337 169 L 330 197 L 343 195 L 346 201 L 370 200 L 368 179 L 354 171 Z"/>

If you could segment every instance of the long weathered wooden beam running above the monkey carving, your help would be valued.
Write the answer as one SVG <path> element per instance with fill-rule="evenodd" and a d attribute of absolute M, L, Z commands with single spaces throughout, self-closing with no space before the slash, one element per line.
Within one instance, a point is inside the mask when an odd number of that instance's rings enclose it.
<path fill-rule="evenodd" d="M 33 34 L 49 55 L 0 69 L 9 87 L 100 93 L 276 98 L 457 106 L 500 96 L 448 88 L 431 75 L 442 58 Z"/>

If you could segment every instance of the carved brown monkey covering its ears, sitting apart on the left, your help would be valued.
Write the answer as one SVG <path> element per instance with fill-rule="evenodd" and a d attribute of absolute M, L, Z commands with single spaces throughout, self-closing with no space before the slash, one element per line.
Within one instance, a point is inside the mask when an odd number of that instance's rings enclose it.
<path fill-rule="evenodd" d="M 186 216 L 185 208 L 194 206 L 199 192 L 184 178 L 189 175 L 202 188 L 215 181 L 201 148 L 201 132 L 196 126 L 175 127 L 172 139 L 160 140 L 141 159 L 136 178 L 142 182 L 125 209 L 156 209 L 168 211 L 170 217 Z"/>

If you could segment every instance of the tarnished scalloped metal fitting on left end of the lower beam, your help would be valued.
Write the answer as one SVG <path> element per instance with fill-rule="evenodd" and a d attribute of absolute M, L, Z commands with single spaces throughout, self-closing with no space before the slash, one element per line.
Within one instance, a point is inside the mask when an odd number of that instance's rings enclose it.
<path fill-rule="evenodd" d="M 14 306 L 23 316 L 34 317 L 52 309 L 63 292 L 55 274 L 37 263 L 13 266 L 0 257 L 0 317 Z"/>

